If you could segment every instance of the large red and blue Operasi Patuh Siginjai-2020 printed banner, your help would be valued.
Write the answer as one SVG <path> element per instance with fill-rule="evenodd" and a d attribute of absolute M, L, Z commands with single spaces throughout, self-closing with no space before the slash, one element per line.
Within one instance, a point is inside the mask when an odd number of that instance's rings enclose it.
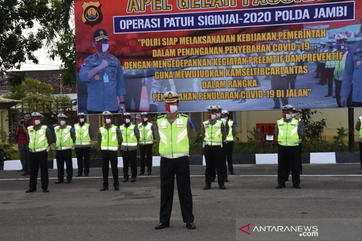
<path fill-rule="evenodd" d="M 341 106 L 341 96 L 349 103 L 352 95 L 342 77 L 350 47 L 362 37 L 361 7 L 329 0 L 75 0 L 78 110 L 164 112 L 169 90 L 181 95 L 181 112 L 216 104 L 228 111 Z M 95 32 L 103 40 L 94 42 Z"/>

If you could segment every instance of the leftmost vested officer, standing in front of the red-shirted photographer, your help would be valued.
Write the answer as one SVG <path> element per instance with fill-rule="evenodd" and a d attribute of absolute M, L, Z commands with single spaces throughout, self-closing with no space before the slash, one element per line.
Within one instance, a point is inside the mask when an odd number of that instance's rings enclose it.
<path fill-rule="evenodd" d="M 24 130 L 29 140 L 29 168 L 30 180 L 29 189 L 26 193 L 37 191 L 38 171 L 40 167 L 40 180 L 42 189 L 45 193 L 49 192 L 49 174 L 48 174 L 48 151 L 53 143 L 53 136 L 46 125 L 42 125 L 42 115 L 38 112 L 31 113 L 33 125 Z"/>

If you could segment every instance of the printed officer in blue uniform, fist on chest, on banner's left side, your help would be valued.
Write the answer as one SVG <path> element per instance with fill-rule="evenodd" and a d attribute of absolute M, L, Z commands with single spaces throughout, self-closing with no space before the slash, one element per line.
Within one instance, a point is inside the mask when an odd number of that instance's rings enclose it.
<path fill-rule="evenodd" d="M 79 71 L 81 82 L 87 82 L 87 113 L 102 113 L 110 109 L 111 113 L 126 112 L 125 82 L 121 64 L 117 57 L 107 53 L 109 38 L 107 31 L 97 29 L 93 34 L 92 45 L 96 53 L 84 59 Z M 117 103 L 119 98 L 119 106 Z"/>

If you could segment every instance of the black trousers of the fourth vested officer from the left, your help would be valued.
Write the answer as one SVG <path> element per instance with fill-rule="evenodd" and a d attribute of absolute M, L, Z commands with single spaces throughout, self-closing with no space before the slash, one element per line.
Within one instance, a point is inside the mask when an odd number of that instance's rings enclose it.
<path fill-rule="evenodd" d="M 111 163 L 113 186 L 119 186 L 118 181 L 118 151 L 101 150 L 103 186 L 108 187 L 109 163 Z"/>

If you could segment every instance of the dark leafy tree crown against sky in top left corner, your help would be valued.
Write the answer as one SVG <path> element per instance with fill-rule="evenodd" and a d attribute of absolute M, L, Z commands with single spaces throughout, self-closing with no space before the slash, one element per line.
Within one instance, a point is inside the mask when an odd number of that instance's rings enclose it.
<path fill-rule="evenodd" d="M 0 5 L 0 75 L 3 76 L 8 69 L 20 69 L 26 59 L 39 63 L 34 51 L 42 48 L 42 40 L 47 39 L 49 24 L 58 16 L 62 1 L 0 0 Z M 37 32 L 24 34 L 34 23 L 39 25 Z"/>

